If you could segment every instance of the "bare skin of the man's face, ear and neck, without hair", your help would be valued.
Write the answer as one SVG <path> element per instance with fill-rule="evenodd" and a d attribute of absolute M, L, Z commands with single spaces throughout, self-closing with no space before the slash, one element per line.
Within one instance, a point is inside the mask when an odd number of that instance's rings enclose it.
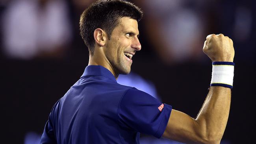
<path fill-rule="evenodd" d="M 94 31 L 96 45 L 93 54 L 90 52 L 89 58 L 89 65 L 101 65 L 107 68 L 116 79 L 119 74 L 130 73 L 132 57 L 136 51 L 141 50 L 137 20 L 122 17 L 117 21 L 118 24 L 111 36 L 101 28 Z"/>

